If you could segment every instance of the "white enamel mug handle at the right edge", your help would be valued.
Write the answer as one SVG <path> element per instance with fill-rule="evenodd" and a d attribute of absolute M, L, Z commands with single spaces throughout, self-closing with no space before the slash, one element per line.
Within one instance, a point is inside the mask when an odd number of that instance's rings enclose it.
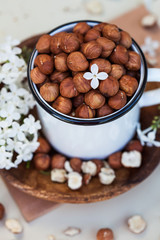
<path fill-rule="evenodd" d="M 160 68 L 148 69 L 147 82 L 160 82 Z M 156 104 L 160 104 L 160 88 L 144 92 L 139 101 L 140 108 Z"/>

